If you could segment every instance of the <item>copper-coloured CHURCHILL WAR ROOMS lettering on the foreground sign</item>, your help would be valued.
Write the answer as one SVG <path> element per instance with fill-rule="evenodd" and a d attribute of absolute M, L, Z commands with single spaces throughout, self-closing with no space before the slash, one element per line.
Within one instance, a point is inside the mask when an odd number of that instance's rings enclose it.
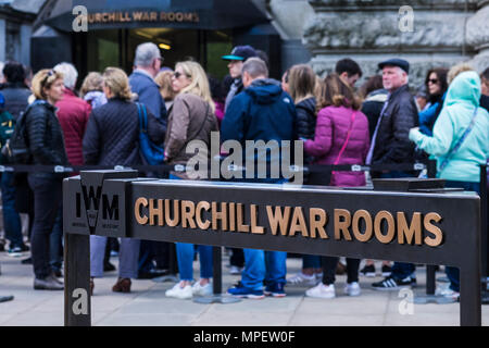
<path fill-rule="evenodd" d="M 404 212 L 387 210 L 376 213 L 363 209 L 326 211 L 313 207 L 304 209 L 136 197 L 134 217 L 137 224 L 154 228 L 183 227 L 202 232 L 211 229 L 250 235 L 271 234 L 281 238 L 301 236 L 361 243 L 376 239 L 381 244 L 428 247 L 438 247 L 443 243 L 442 216 L 436 212 L 414 212 L 409 216 Z"/>

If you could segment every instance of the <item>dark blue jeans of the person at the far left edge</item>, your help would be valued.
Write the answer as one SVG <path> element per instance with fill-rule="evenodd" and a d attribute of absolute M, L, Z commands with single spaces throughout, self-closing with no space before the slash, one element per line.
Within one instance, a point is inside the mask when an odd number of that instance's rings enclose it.
<path fill-rule="evenodd" d="M 13 173 L 4 172 L 0 181 L 2 190 L 3 226 L 5 238 L 10 241 L 10 248 L 22 247 L 21 215 L 15 209 L 15 186 L 12 185 Z"/>

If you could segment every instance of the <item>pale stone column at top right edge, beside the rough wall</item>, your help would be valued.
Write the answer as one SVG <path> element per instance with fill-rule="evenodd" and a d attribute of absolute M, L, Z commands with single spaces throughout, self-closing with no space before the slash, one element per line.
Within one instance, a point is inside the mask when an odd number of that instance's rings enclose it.
<path fill-rule="evenodd" d="M 477 51 L 469 63 L 481 73 L 489 67 L 489 1 L 479 1 L 477 12 L 468 18 L 466 40 Z"/>

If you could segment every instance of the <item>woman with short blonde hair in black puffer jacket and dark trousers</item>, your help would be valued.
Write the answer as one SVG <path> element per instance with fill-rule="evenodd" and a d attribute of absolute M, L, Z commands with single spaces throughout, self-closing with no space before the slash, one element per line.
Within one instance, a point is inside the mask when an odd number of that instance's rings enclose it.
<path fill-rule="evenodd" d="M 63 75 L 53 70 L 41 70 L 33 78 L 36 100 L 26 110 L 26 138 L 33 164 L 68 165 L 63 130 L 54 104 L 64 92 Z M 49 265 L 49 239 L 62 202 L 62 174 L 28 173 L 34 192 L 34 224 L 30 239 L 34 265 L 34 288 L 61 290 L 60 282 Z"/>

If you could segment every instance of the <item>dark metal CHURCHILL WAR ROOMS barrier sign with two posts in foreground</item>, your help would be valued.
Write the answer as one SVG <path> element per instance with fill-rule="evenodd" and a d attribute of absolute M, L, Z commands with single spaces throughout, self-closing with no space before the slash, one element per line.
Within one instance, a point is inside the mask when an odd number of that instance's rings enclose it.
<path fill-rule="evenodd" d="M 115 178 L 121 175 L 122 178 Z M 466 192 L 138 179 L 83 172 L 64 181 L 65 324 L 89 325 L 91 234 L 460 269 L 461 324 L 480 325 L 480 201 Z M 90 194 L 91 192 L 91 194 Z M 75 235 L 79 238 L 76 238 Z M 77 319 L 86 318 L 84 320 Z"/>

